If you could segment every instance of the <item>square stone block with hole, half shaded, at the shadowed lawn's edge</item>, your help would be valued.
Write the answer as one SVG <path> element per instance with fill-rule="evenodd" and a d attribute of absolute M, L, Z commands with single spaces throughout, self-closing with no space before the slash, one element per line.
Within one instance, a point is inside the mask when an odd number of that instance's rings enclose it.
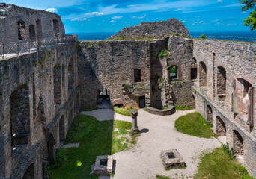
<path fill-rule="evenodd" d="M 94 166 L 94 174 L 109 175 L 113 172 L 113 157 L 112 155 L 97 156 Z"/>

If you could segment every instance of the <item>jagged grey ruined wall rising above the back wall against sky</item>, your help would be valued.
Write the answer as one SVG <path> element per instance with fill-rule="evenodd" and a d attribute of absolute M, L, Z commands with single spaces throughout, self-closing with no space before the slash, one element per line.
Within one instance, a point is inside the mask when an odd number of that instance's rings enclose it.
<path fill-rule="evenodd" d="M 189 31 L 182 22 L 177 19 L 169 19 L 168 21 L 159 22 L 141 22 L 129 28 L 124 28 L 118 34 L 109 37 L 109 39 L 117 39 L 118 37 L 135 38 L 135 37 L 160 37 L 165 34 L 178 33 L 183 37 L 189 37 Z"/>

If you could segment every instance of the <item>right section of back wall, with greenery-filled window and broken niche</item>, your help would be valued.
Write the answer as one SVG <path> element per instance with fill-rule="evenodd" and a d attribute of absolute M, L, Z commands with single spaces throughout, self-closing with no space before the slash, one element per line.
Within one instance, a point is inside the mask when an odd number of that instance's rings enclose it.
<path fill-rule="evenodd" d="M 165 43 L 166 40 L 168 43 Z M 162 45 L 156 46 L 157 53 L 154 54 L 155 58 L 151 65 L 151 88 L 153 89 L 151 106 L 162 108 L 171 100 L 174 104 L 195 107 L 195 99 L 191 95 L 190 78 L 190 69 L 196 66 L 192 57 L 193 41 L 171 36 L 163 40 Z M 158 57 L 159 52 L 164 49 L 168 50 L 168 57 Z M 175 79 L 169 77 L 171 66 L 177 66 Z"/>

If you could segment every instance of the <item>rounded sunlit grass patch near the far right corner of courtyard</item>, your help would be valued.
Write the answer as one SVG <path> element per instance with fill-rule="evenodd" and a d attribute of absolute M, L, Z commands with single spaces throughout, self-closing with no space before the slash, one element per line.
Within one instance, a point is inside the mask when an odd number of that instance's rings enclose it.
<path fill-rule="evenodd" d="M 211 125 L 205 122 L 204 117 L 200 113 L 189 113 L 185 116 L 180 116 L 175 121 L 177 131 L 192 136 L 211 138 L 216 136 L 211 129 Z"/>

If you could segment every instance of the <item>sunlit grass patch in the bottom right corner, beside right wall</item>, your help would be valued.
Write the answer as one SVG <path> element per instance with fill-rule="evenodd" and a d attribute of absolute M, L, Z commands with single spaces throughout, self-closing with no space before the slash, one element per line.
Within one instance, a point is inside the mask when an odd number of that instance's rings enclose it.
<path fill-rule="evenodd" d="M 194 179 L 254 179 L 247 170 L 223 151 L 216 148 L 213 152 L 204 154 L 199 163 L 198 173 Z"/>

